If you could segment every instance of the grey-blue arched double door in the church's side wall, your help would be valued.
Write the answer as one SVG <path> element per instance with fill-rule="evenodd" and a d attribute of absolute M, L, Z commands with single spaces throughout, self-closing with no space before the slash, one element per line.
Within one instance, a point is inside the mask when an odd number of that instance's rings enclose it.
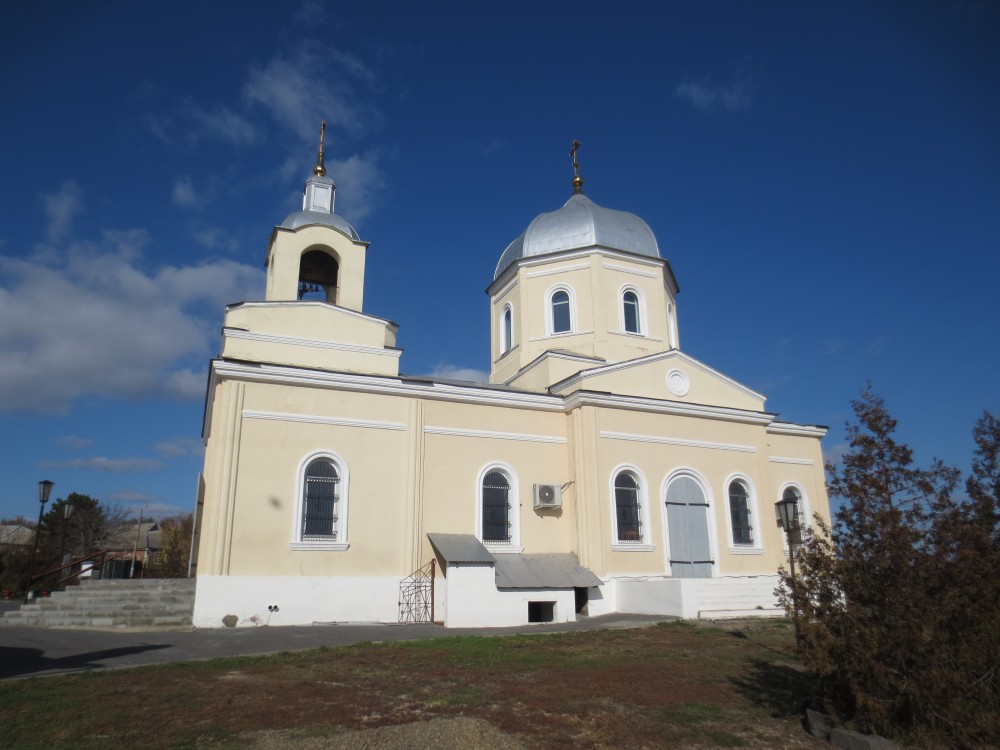
<path fill-rule="evenodd" d="M 667 538 L 670 575 L 711 578 L 712 547 L 708 541 L 708 502 L 691 477 L 675 479 L 667 487 Z"/>

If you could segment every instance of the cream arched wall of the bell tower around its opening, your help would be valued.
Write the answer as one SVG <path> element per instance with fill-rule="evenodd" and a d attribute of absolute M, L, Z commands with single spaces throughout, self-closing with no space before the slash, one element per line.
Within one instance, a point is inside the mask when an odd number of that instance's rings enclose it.
<path fill-rule="evenodd" d="M 336 303 L 351 310 L 363 309 L 367 244 L 355 242 L 336 229 L 319 225 L 299 229 L 275 228 L 268 249 L 266 299 L 298 299 L 301 257 L 313 249 L 323 249 L 337 260 Z"/>

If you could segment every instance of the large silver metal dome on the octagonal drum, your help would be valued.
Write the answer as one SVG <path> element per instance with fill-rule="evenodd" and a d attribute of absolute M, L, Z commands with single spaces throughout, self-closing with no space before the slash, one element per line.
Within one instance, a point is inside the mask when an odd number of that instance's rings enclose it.
<path fill-rule="evenodd" d="M 562 208 L 535 217 L 521 236 L 504 250 L 493 278 L 498 278 L 521 258 L 595 245 L 660 257 L 656 237 L 646 222 L 627 211 L 598 206 L 583 193 L 576 193 Z"/>

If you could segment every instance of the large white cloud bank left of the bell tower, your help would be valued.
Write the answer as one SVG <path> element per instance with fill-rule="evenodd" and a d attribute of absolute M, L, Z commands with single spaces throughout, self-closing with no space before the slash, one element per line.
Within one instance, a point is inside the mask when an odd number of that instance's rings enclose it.
<path fill-rule="evenodd" d="M 142 230 L 0 255 L 0 412 L 65 412 L 78 398 L 198 401 L 228 303 L 263 272 L 231 260 L 148 269 Z M 58 258 L 54 262 L 53 258 Z"/>

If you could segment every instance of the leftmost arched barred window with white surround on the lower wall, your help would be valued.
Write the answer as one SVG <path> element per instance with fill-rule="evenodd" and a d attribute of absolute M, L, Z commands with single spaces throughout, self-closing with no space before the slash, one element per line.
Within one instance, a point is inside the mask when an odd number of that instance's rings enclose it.
<path fill-rule="evenodd" d="M 347 464 L 332 453 L 314 453 L 299 465 L 293 550 L 346 550 Z"/>

